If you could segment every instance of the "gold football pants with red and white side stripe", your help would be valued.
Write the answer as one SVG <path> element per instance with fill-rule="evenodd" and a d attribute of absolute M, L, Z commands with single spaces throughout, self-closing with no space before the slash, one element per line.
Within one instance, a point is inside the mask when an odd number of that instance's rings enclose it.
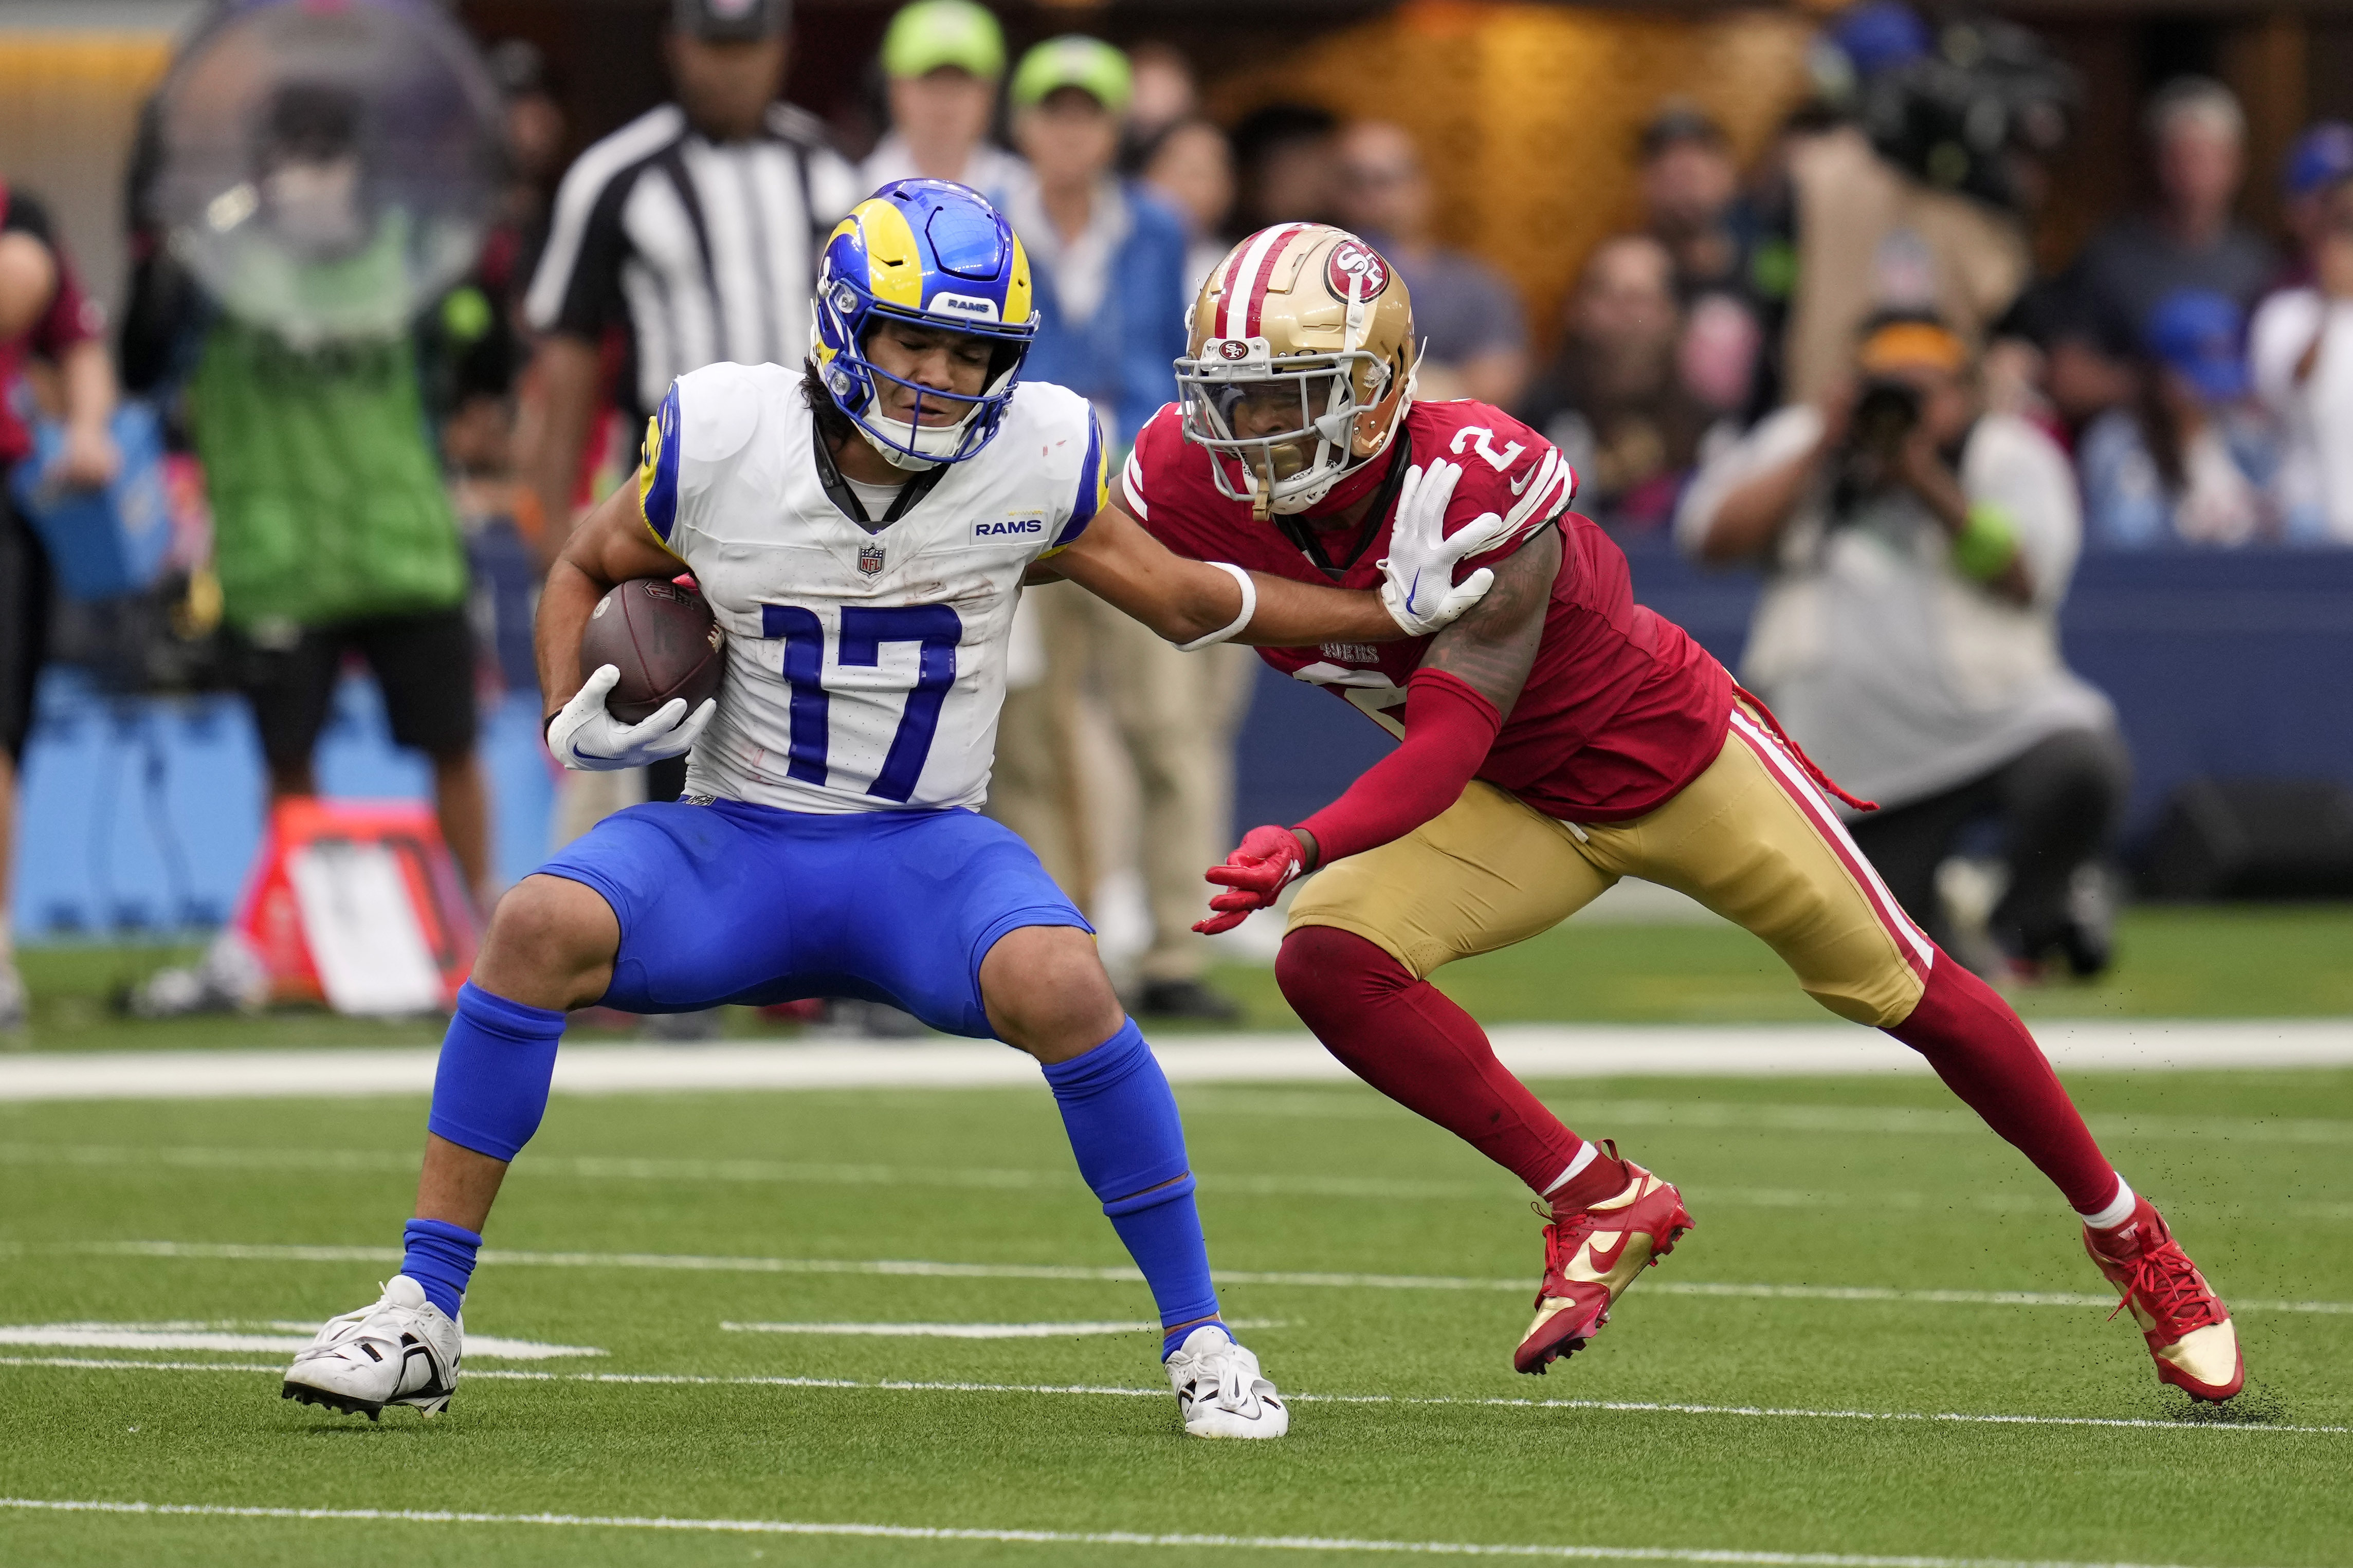
<path fill-rule="evenodd" d="M 1292 900 L 1289 929 L 1337 926 L 1414 978 L 1546 931 L 1619 877 L 1689 893 L 1760 936 L 1840 1018 L 1904 1023 L 1934 945 L 1854 849 L 1807 766 L 1746 708 L 1715 762 L 1631 823 L 1560 823 L 1473 780 L 1414 832 L 1348 856 Z"/>

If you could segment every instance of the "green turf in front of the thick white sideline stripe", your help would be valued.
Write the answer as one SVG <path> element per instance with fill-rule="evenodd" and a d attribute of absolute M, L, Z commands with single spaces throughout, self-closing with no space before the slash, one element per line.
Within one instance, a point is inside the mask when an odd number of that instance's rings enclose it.
<path fill-rule="evenodd" d="M 2242 1302 L 2353 1302 L 2353 1072 L 2075 1084 L 2132 1180 Z M 2344 1563 L 2353 1316 L 2247 1307 L 2247 1427 L 2179 1420 L 2089 1305 L 1694 1295 L 1666 1286 L 2097 1293 L 2064 1206 L 1927 1079 L 1593 1081 L 1548 1098 L 1680 1180 L 1699 1229 L 1609 1331 L 1537 1382 L 1508 1349 L 1539 1260 L 1508 1178 L 1365 1088 L 1186 1095 L 1214 1258 L 1492 1288 L 1231 1284 L 1294 1394 L 1282 1443 L 1198 1443 L 1174 1401 L 875 1387 L 584 1382 L 687 1373 L 1155 1389 L 1144 1333 L 929 1340 L 725 1321 L 1141 1321 L 1118 1279 L 487 1262 L 478 1333 L 600 1347 L 468 1366 L 433 1422 L 329 1418 L 275 1375 L 0 1366 L 0 1493 L 948 1528 L 1572 1542 L 1941 1559 Z M 118 1241 L 386 1246 L 416 1100 L 0 1105 L 9 1324 L 318 1321 L 388 1262 L 155 1258 Z M 492 1239 L 515 1253 L 1120 1267 L 1045 1088 L 560 1098 Z M 275 1354 L 0 1347 L 14 1359 L 275 1366 Z M 473 1373 L 548 1371 L 546 1380 Z M 1485 1406 L 2151 1420 L 2153 1427 Z M 1115 1544 L 616 1528 L 61 1516 L 0 1509 L 0 1561 L 75 1563 L 1235 1561 Z M 1240 1554 L 1242 1561 L 1259 1554 Z M 1273 1561 L 1379 1561 L 1280 1554 Z M 1400 1559 L 1402 1561 L 1402 1559 Z"/>

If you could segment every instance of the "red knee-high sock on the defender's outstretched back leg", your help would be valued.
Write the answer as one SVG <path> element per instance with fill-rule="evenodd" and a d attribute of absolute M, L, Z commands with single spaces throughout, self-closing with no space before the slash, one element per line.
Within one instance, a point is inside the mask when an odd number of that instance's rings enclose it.
<path fill-rule="evenodd" d="M 2035 1037 L 1991 985 L 1939 952 L 1920 1006 L 1887 1032 L 1925 1056 L 1986 1126 L 2019 1145 L 2078 1213 L 2108 1206 L 2115 1166 L 2092 1143 Z"/>

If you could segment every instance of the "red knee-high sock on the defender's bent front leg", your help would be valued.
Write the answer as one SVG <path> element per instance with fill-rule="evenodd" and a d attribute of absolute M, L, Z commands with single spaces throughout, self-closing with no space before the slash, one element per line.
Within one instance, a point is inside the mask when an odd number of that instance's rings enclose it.
<path fill-rule="evenodd" d="M 1315 1039 L 1348 1072 L 1447 1128 L 1537 1192 L 1558 1182 L 1584 1147 L 1560 1117 L 1544 1110 L 1494 1060 L 1494 1046 L 1471 1013 L 1365 938 L 1332 926 L 1301 926 L 1282 938 L 1275 980 L 1315 1030 Z M 1588 1171 L 1598 1164 L 1602 1161 L 1588 1161 Z M 1584 1175 L 1581 1171 L 1579 1180 Z"/>

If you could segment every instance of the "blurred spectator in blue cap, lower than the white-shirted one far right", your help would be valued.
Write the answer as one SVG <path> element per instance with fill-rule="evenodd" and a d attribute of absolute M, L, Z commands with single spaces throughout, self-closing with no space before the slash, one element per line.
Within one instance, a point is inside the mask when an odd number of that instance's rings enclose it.
<path fill-rule="evenodd" d="M 2275 531 L 2275 442 L 2247 407 L 2245 313 L 2181 289 L 2144 331 L 2139 393 L 2101 414 L 2075 449 L 2092 545 L 2245 545 Z"/>

